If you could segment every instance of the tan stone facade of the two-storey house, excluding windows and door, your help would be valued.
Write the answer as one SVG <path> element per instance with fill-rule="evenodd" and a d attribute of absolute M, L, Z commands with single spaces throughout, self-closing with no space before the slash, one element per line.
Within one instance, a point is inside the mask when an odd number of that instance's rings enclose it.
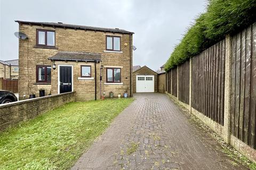
<path fill-rule="evenodd" d="M 55 47 L 52 49 L 36 47 L 36 29 L 54 30 Z M 26 98 L 30 94 L 39 96 L 39 89 L 45 89 L 45 95 L 58 94 L 58 65 L 73 65 L 73 89 L 76 91 L 77 100 L 94 99 L 95 93 L 95 75 L 94 63 L 73 62 L 73 61 L 55 61 L 57 69 L 51 69 L 51 83 L 36 83 L 36 66 L 49 65 L 53 63 L 48 60 L 49 57 L 58 52 L 87 52 L 102 54 L 101 62 L 96 64 L 97 71 L 97 99 L 106 93 L 108 97 L 110 91 L 114 92 L 116 97 L 123 94 L 125 90 L 130 94 L 130 71 L 132 67 L 132 34 L 129 33 L 111 33 L 104 31 L 79 30 L 57 27 L 46 27 L 39 25 L 19 24 L 19 31 L 27 35 L 28 39 L 19 40 L 19 96 Z M 121 37 L 121 52 L 106 52 L 106 35 Z M 91 74 L 94 80 L 78 80 L 80 76 L 80 65 L 92 65 Z M 103 69 L 101 70 L 101 66 Z M 119 84 L 106 83 L 106 66 L 121 68 L 121 82 Z M 100 89 L 100 70 L 102 75 Z M 131 80 L 132 81 L 132 80 Z M 100 94 L 101 91 L 101 94 Z M 132 91 L 132 89 L 131 89 Z"/>

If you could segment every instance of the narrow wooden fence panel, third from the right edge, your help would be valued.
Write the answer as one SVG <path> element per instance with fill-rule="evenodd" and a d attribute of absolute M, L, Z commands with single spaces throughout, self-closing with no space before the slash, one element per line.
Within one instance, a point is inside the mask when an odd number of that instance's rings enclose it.
<path fill-rule="evenodd" d="M 189 105 L 189 60 L 179 66 L 179 100 Z"/>

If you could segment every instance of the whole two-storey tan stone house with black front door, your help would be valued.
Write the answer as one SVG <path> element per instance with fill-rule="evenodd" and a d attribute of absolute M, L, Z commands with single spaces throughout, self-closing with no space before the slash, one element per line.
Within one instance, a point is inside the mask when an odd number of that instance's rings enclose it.
<path fill-rule="evenodd" d="M 19 39 L 19 96 L 76 91 L 76 100 L 132 96 L 132 36 L 122 29 L 15 21 Z"/>

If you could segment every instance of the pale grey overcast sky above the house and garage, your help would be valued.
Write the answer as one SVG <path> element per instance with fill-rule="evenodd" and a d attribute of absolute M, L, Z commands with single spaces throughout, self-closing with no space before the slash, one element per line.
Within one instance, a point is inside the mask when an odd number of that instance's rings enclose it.
<path fill-rule="evenodd" d="M 153 70 L 164 64 L 205 0 L 0 0 L 0 60 L 18 58 L 14 20 L 63 22 L 135 32 L 133 65 Z"/>

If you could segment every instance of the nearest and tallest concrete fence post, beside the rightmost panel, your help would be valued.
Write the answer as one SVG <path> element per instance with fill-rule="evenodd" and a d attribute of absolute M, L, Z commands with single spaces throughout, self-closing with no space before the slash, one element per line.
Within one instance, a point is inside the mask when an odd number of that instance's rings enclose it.
<path fill-rule="evenodd" d="M 225 84 L 224 84 L 224 141 L 230 142 L 230 106 L 231 106 L 231 37 L 225 38 Z"/>

